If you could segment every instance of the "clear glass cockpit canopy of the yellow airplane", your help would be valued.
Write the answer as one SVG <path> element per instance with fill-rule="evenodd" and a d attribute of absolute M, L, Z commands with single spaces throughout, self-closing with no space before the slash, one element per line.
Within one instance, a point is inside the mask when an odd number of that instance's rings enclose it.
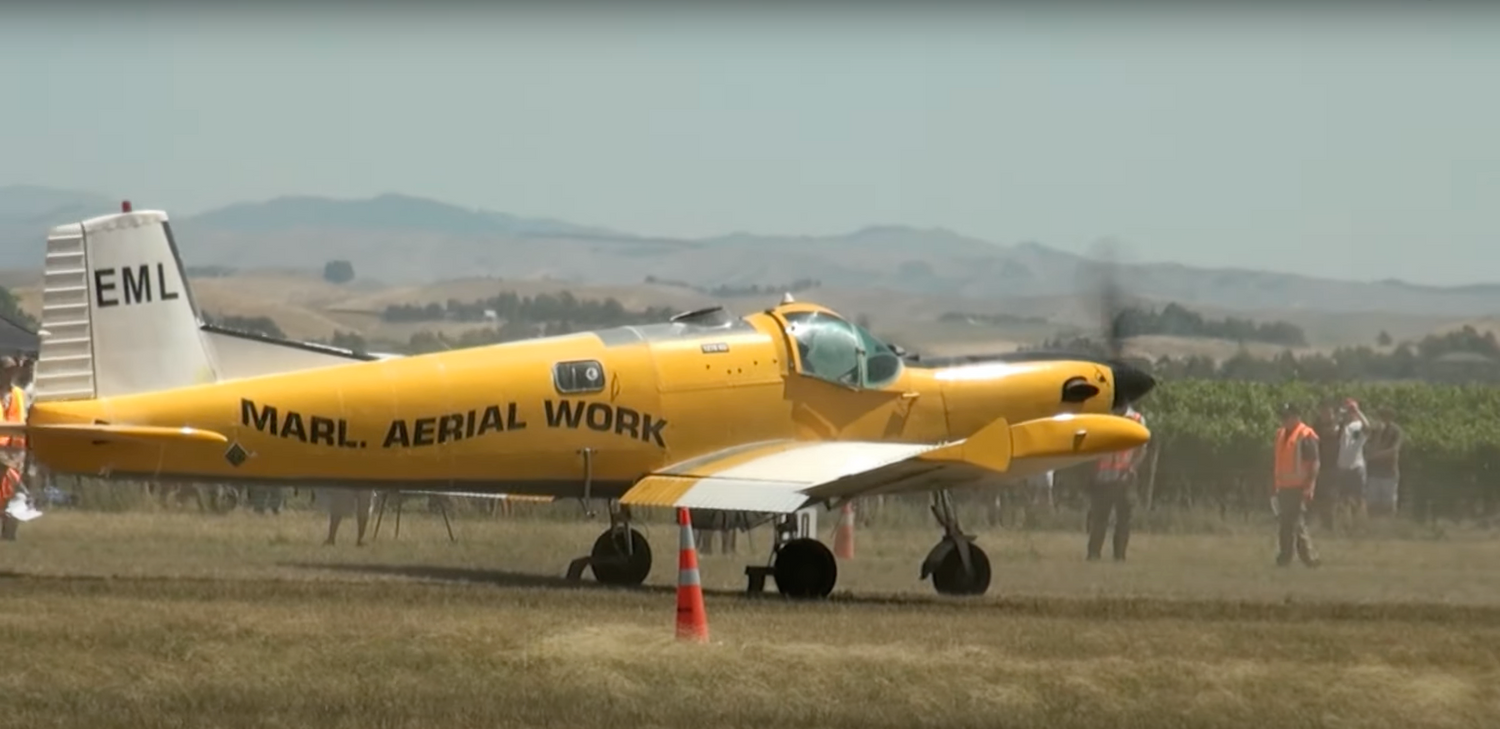
<path fill-rule="evenodd" d="M 902 357 L 858 324 L 828 310 L 782 312 L 801 374 L 844 387 L 880 388 L 902 375 Z"/>

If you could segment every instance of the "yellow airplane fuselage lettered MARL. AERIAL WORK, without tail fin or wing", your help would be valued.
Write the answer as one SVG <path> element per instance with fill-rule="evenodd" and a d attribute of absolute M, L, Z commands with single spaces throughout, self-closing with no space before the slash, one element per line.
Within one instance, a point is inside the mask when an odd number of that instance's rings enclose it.
<path fill-rule="evenodd" d="M 38 434 L 32 448 L 57 472 L 88 476 L 556 496 L 586 483 L 612 498 L 646 472 L 740 444 L 939 442 L 996 417 L 1047 417 L 1059 412 L 1062 382 L 1077 376 L 1101 394 L 1076 411 L 1108 410 L 1107 372 L 1089 362 L 903 366 L 882 387 L 804 375 L 782 314 L 39 402 L 36 424 L 190 426 L 228 444 L 81 444 Z"/>

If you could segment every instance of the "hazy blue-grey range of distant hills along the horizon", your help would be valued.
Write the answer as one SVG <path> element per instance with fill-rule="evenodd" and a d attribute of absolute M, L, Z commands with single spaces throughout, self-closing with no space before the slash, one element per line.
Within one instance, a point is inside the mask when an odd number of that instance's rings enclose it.
<path fill-rule="evenodd" d="M 34 268 L 46 226 L 116 206 L 87 194 L 0 188 L 0 232 L 6 236 L 0 266 Z M 844 291 L 1004 303 L 1024 309 L 1018 314 L 1080 324 L 1095 315 L 1077 302 L 1058 303 L 1056 310 L 1046 303 L 1088 296 L 1096 266 L 1090 260 L 1035 242 L 1002 244 L 942 228 L 885 225 L 843 236 L 674 240 L 406 195 L 284 196 L 174 220 L 183 258 L 198 267 L 316 272 L 340 258 L 354 264 L 358 279 L 402 286 L 476 276 L 608 286 L 638 285 L 650 276 L 710 288 L 816 279 Z M 1215 316 L 1239 312 L 1300 324 L 1323 314 L 1446 321 L 1500 315 L 1500 285 L 1348 282 L 1164 262 L 1122 266 L 1120 274 L 1142 303 L 1179 302 Z M 1335 333 L 1342 327 L 1342 320 L 1328 324 Z"/>

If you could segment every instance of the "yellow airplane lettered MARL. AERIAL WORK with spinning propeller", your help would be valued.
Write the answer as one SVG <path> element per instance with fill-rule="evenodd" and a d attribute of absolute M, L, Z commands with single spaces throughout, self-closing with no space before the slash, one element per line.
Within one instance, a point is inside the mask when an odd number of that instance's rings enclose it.
<path fill-rule="evenodd" d="M 1122 362 L 903 357 L 832 310 L 786 297 L 638 327 L 225 380 L 204 345 L 162 212 L 54 228 L 30 420 L 54 472 L 608 500 L 586 564 L 651 568 L 630 507 L 776 514 L 927 492 L 944 531 L 922 562 L 944 594 L 990 564 L 950 489 L 1146 444 L 1119 417 L 1155 386 Z M 153 309 L 154 308 L 154 309 Z M 172 310 L 172 316 L 152 315 Z M 826 597 L 832 552 L 778 540 L 789 597 Z"/>

